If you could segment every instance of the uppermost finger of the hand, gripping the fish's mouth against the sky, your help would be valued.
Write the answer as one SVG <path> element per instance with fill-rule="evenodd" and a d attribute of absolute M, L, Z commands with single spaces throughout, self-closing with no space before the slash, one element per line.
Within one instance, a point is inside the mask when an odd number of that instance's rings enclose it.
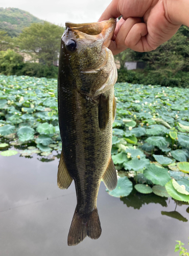
<path fill-rule="evenodd" d="M 102 20 L 107 20 L 109 18 L 117 18 L 120 17 L 121 13 L 119 10 L 119 0 L 112 0 L 112 2 L 109 4 L 109 6 L 106 8 L 106 10 L 101 15 L 98 22 L 102 22 Z"/>

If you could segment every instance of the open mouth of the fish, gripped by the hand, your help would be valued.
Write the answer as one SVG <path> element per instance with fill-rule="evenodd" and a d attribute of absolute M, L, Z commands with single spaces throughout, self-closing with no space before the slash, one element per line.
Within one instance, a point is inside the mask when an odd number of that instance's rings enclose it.
<path fill-rule="evenodd" d="M 110 18 L 108 20 L 104 20 L 103 22 L 95 22 L 95 23 L 82 23 L 75 24 L 66 22 L 65 27 L 70 28 L 75 31 L 80 31 L 87 35 L 94 36 L 94 39 L 101 34 L 104 39 L 103 46 L 108 47 L 111 42 L 111 38 L 113 36 L 115 27 L 116 27 L 116 19 Z M 81 34 L 79 35 L 81 36 Z"/>

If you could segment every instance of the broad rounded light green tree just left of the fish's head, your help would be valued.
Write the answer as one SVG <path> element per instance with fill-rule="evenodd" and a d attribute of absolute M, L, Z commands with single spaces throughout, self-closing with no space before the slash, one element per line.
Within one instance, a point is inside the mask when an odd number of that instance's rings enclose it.
<path fill-rule="evenodd" d="M 32 60 L 51 66 L 57 60 L 60 51 L 60 40 L 64 29 L 57 25 L 44 22 L 34 23 L 22 30 L 17 38 L 20 50 L 30 54 Z"/>

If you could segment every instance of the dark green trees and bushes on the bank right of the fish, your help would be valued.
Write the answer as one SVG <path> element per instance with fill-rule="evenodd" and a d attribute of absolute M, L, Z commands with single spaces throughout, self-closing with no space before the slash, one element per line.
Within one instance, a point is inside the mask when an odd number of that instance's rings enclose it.
<path fill-rule="evenodd" d="M 121 63 L 118 82 L 160 84 L 161 86 L 189 88 L 189 29 L 182 26 L 178 32 L 155 51 L 135 52 L 130 49 L 115 58 Z M 126 61 L 143 61 L 144 70 L 126 70 Z"/>

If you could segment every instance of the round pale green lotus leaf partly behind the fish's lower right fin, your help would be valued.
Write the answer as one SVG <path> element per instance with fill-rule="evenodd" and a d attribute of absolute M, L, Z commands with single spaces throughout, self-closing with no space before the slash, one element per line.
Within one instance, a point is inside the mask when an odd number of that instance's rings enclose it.
<path fill-rule="evenodd" d="M 117 180 L 117 186 L 112 191 L 108 191 L 108 194 L 113 197 L 127 197 L 133 189 L 132 182 L 127 177 L 120 177 Z"/>

